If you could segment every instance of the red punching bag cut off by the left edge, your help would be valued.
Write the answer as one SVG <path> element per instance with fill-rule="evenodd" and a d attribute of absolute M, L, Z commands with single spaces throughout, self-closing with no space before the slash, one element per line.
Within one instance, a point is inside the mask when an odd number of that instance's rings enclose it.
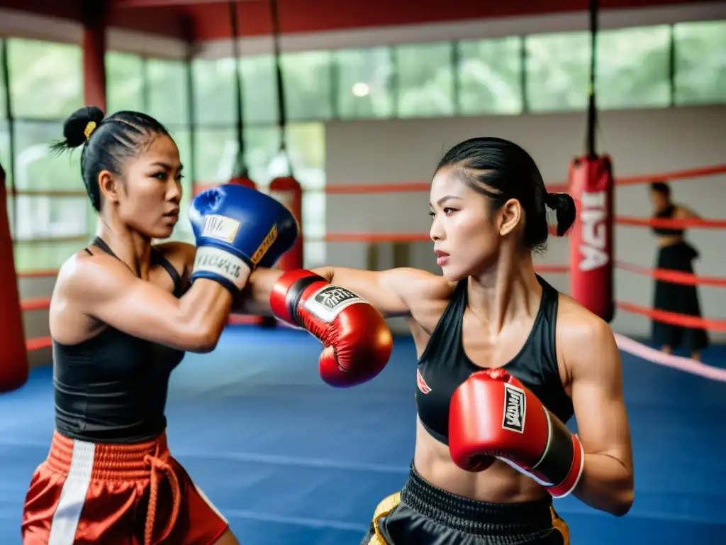
<path fill-rule="evenodd" d="M 23 333 L 23 311 L 17 291 L 12 235 L 7 216 L 5 171 L 0 166 L 0 392 L 19 388 L 28 380 L 28 351 Z"/>

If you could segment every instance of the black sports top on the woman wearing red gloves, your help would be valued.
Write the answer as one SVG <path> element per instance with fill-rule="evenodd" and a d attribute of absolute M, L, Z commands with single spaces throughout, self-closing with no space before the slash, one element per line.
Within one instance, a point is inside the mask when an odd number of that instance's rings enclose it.
<path fill-rule="evenodd" d="M 567 422 L 574 409 L 562 385 L 555 352 L 559 294 L 544 279 L 538 276 L 537 280 L 542 285 L 542 300 L 534 326 L 519 353 L 502 368 L 521 380 L 560 420 Z M 467 357 L 462 344 L 466 304 L 467 280 L 461 280 L 418 362 L 418 416 L 428 432 L 444 444 L 449 443 L 449 402 L 454 390 L 482 369 Z"/>

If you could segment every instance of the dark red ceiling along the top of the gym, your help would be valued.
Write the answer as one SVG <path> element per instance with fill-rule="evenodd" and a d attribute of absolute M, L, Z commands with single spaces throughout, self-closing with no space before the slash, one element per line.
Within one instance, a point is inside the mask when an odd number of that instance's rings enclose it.
<path fill-rule="evenodd" d="M 107 1 L 110 26 L 170 38 L 203 42 L 229 37 L 229 4 L 219 0 L 0 0 L 9 8 L 81 21 L 84 6 Z M 600 0 L 600 9 L 628 9 L 674 4 L 714 4 L 721 0 Z M 587 0 L 278 0 L 284 34 L 348 31 L 425 23 L 452 23 L 517 15 L 582 12 Z M 237 7 L 243 37 L 271 32 L 267 0 L 240 0 Z"/>

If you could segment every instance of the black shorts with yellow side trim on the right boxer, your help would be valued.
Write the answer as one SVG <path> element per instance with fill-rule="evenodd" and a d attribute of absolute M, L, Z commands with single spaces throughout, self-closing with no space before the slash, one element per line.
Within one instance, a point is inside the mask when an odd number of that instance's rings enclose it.
<path fill-rule="evenodd" d="M 383 500 L 360 545 L 568 545 L 551 500 L 488 504 L 436 488 L 412 467 Z"/>

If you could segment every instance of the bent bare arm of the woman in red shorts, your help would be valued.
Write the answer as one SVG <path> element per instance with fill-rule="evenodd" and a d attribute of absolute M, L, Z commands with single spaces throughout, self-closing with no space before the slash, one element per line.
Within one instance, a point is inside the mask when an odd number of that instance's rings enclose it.
<path fill-rule="evenodd" d="M 78 310 L 129 335 L 179 350 L 213 350 L 232 307 L 229 291 L 212 280 L 197 280 L 176 299 L 111 257 L 78 259 L 64 268 L 62 295 Z"/>

